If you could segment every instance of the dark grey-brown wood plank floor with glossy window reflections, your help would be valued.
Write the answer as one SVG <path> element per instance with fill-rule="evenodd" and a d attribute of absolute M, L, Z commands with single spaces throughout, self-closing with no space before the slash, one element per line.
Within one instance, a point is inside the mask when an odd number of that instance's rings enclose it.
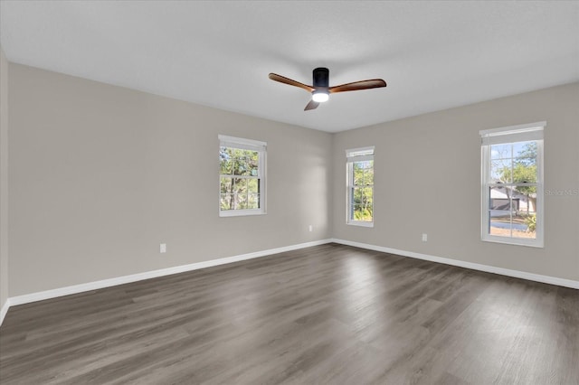
<path fill-rule="evenodd" d="M 12 307 L 3 384 L 579 384 L 579 290 L 328 244 Z"/>

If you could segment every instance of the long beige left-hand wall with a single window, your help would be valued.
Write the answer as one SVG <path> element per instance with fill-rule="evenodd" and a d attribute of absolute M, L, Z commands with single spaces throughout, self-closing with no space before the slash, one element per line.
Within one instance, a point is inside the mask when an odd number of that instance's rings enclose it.
<path fill-rule="evenodd" d="M 331 235 L 327 133 L 13 63 L 10 124 L 10 296 Z M 268 143 L 267 215 L 218 216 L 218 134 Z"/>

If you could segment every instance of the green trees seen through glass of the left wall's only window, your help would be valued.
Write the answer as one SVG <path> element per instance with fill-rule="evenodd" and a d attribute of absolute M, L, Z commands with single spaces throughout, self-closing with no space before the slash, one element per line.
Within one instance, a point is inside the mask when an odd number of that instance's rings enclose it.
<path fill-rule="evenodd" d="M 260 153 L 232 147 L 219 148 L 220 207 L 226 210 L 260 208 Z"/>

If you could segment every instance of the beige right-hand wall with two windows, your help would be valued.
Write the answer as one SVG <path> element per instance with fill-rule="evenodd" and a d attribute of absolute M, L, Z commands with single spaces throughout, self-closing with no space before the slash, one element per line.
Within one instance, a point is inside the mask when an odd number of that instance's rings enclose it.
<path fill-rule="evenodd" d="M 337 239 L 579 280 L 579 83 L 334 137 Z M 480 240 L 479 130 L 546 120 L 545 248 Z M 346 225 L 345 150 L 375 146 L 375 227 Z M 422 242 L 428 233 L 428 242 Z"/>

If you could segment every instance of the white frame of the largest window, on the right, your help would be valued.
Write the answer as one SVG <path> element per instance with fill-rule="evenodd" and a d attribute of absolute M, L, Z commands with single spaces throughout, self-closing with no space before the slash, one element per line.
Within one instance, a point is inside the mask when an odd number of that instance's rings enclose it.
<path fill-rule="evenodd" d="M 530 246 L 535 248 L 544 247 L 545 210 L 544 210 L 544 129 L 546 122 L 529 123 L 525 125 L 499 127 L 479 131 L 481 137 L 481 239 L 483 241 L 506 243 L 510 245 Z M 500 237 L 489 234 L 489 187 L 492 184 L 490 178 L 490 146 L 504 145 L 509 143 L 536 141 L 536 230 L 535 239 Z"/>

